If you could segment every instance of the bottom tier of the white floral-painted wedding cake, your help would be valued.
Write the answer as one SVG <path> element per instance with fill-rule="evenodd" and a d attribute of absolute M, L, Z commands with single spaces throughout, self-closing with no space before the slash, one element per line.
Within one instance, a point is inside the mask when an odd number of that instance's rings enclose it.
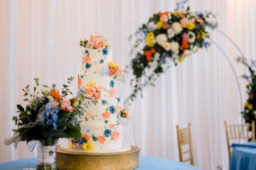
<path fill-rule="evenodd" d="M 115 149 L 122 147 L 123 127 L 119 124 L 102 126 L 80 125 L 81 134 L 90 136 L 93 150 Z"/>

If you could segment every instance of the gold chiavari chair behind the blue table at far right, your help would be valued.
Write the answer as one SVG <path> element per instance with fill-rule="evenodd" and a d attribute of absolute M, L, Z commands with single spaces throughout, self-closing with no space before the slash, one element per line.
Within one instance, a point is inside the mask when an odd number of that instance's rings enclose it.
<path fill-rule="evenodd" d="M 225 121 L 224 124 L 226 128 L 228 154 L 231 160 L 230 140 L 239 140 L 239 143 L 243 139 L 251 139 L 251 141 L 255 141 L 255 122 L 253 120 L 251 124 L 227 125 L 227 121 Z M 252 133 L 249 133 L 250 129 Z"/>

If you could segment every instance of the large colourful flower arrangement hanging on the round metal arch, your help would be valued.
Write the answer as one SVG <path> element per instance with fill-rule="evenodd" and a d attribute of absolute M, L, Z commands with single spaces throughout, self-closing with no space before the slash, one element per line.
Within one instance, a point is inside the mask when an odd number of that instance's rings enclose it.
<path fill-rule="evenodd" d="M 134 78 L 133 100 L 137 92 L 148 85 L 154 85 L 156 76 L 169 68 L 169 61 L 182 62 L 199 48 L 209 46 L 207 27 L 217 27 L 215 15 L 211 12 L 190 12 L 185 8 L 187 0 L 177 3 L 174 12 L 159 12 L 149 18 L 129 40 L 134 42 L 131 61 Z M 170 60 L 171 59 L 171 60 Z"/>

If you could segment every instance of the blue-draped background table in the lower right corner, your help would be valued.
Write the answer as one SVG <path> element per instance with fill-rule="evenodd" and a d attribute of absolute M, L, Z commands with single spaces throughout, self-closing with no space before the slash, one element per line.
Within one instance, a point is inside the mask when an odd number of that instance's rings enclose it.
<path fill-rule="evenodd" d="M 256 148 L 241 148 L 255 147 L 255 142 L 245 144 L 234 144 L 232 157 L 230 161 L 230 170 L 256 170 Z"/>

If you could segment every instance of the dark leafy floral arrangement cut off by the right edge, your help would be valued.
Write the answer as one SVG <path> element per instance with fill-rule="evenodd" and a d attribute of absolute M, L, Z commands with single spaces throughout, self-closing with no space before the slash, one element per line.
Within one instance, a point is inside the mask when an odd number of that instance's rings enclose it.
<path fill-rule="evenodd" d="M 242 76 L 248 81 L 246 85 L 248 98 L 241 114 L 244 116 L 245 122 L 251 124 L 253 120 L 256 120 L 256 61 L 252 60 L 249 63 L 244 58 L 239 57 L 237 62 L 244 64 L 250 72 L 250 75 Z"/>

